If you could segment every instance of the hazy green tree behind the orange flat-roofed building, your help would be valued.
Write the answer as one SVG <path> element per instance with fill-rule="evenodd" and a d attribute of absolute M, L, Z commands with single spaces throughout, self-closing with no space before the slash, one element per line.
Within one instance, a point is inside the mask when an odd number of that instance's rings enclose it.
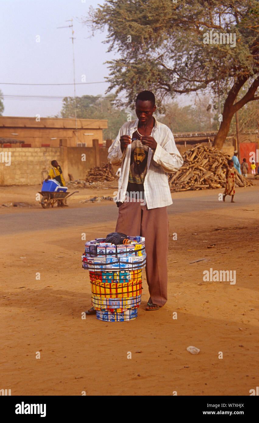
<path fill-rule="evenodd" d="M 124 122 L 127 121 L 127 112 L 124 109 L 114 107 L 114 95 L 102 96 L 82 96 L 76 97 L 76 112 L 78 119 L 107 119 L 108 129 L 104 129 L 104 138 L 114 139 Z M 74 118 L 74 98 L 65 97 L 61 110 L 62 118 Z"/>

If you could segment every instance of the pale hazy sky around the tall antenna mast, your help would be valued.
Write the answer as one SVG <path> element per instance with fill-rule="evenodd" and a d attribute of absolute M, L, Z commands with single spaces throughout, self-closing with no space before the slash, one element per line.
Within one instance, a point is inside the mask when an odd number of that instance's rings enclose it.
<path fill-rule="evenodd" d="M 84 0 L 83 0 L 84 1 Z M 106 53 L 102 44 L 106 33 L 91 31 L 80 22 L 90 5 L 94 8 L 102 0 L 0 0 L 1 66 L 0 90 L 6 96 L 73 96 L 73 85 L 5 85 L 3 82 L 61 84 L 73 83 L 71 25 L 73 19 L 75 82 L 104 81 L 108 76 L 106 60 L 115 57 Z M 39 36 L 39 37 L 37 37 Z M 36 40 L 40 42 L 36 42 Z M 104 94 L 108 83 L 76 85 L 76 95 Z M 62 107 L 61 99 L 3 100 L 5 116 L 55 115 Z"/>

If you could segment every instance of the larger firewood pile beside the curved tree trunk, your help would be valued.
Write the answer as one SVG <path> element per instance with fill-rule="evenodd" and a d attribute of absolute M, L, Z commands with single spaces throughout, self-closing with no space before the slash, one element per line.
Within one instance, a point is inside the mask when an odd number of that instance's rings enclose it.
<path fill-rule="evenodd" d="M 172 191 L 204 190 L 206 188 L 226 187 L 226 168 L 228 154 L 199 144 L 187 150 L 182 158 L 182 168 L 169 174 L 169 186 Z M 238 187 L 253 185 L 253 182 L 235 171 L 235 184 Z"/>

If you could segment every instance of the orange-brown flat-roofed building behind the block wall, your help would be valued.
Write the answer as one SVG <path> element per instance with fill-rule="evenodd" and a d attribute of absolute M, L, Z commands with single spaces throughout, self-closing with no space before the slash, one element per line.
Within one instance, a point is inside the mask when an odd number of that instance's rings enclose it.
<path fill-rule="evenodd" d="M 107 128 L 103 119 L 26 118 L 0 116 L 1 144 L 8 146 L 58 147 L 60 139 L 66 138 L 68 147 L 92 147 L 93 139 L 103 143 L 102 130 Z M 16 141 L 16 143 L 15 143 Z M 15 145 L 16 144 L 16 145 Z M 21 146 L 22 146 L 21 144 Z"/>

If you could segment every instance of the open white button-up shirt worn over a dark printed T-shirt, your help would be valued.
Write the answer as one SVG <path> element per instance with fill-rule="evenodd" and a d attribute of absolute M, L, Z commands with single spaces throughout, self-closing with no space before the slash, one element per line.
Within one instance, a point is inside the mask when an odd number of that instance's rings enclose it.
<path fill-rule="evenodd" d="M 108 150 L 108 161 L 112 165 L 121 164 L 116 201 L 124 202 L 126 197 L 131 155 L 131 144 L 124 148 L 122 153 L 120 138 L 122 135 L 129 135 L 132 138 L 136 129 L 138 129 L 138 119 L 125 122 Z M 181 168 L 183 159 L 176 148 L 174 136 L 168 126 L 157 122 L 155 119 L 150 136 L 156 140 L 157 147 L 155 151 L 149 148 L 144 191 L 147 208 L 155 209 L 173 203 L 168 184 L 168 173 L 176 172 Z"/>

